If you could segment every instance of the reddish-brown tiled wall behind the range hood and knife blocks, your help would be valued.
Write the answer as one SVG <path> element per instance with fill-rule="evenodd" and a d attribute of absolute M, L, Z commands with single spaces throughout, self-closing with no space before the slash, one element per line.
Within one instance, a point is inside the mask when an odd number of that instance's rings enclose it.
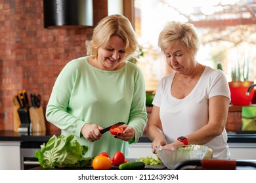
<path fill-rule="evenodd" d="M 107 2 L 93 0 L 94 25 L 107 16 Z M 40 93 L 45 112 L 56 76 L 68 61 L 85 56 L 91 31 L 44 29 L 43 1 L 0 0 L 0 130 L 13 129 L 12 97 L 19 90 Z"/>

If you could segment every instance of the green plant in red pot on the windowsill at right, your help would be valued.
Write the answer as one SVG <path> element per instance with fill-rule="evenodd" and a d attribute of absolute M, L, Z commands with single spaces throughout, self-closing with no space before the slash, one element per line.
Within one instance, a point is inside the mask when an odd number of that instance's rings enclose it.
<path fill-rule="evenodd" d="M 246 95 L 249 86 L 253 84 L 253 81 L 249 80 L 249 59 L 246 54 L 244 55 L 242 72 L 239 59 L 235 61 L 231 71 L 231 80 L 231 82 L 228 82 L 228 85 L 230 88 L 232 105 L 250 105 L 253 99 L 254 89 L 249 92 L 249 95 Z"/>

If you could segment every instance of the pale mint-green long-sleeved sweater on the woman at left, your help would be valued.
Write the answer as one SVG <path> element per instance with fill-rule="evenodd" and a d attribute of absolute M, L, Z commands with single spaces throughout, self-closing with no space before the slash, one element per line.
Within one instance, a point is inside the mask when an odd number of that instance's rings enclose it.
<path fill-rule="evenodd" d="M 87 141 L 81 135 L 84 124 L 108 127 L 125 122 L 135 129 L 135 141 L 146 127 L 146 92 L 142 71 L 127 62 L 117 71 L 102 71 L 88 63 L 88 56 L 70 61 L 56 79 L 46 109 L 49 122 L 62 130 L 62 135 L 75 135 L 80 144 L 89 147 L 86 157 L 100 152 L 113 156 L 129 153 L 129 142 L 114 138 L 110 132 L 100 140 Z"/>

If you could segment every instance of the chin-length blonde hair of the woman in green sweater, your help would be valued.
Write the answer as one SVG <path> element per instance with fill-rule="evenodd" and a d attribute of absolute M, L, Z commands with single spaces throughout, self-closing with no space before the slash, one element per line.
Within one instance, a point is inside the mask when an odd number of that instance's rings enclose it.
<path fill-rule="evenodd" d="M 117 35 L 125 41 L 127 54 L 124 61 L 134 57 L 138 47 L 138 41 L 131 22 L 125 16 L 114 14 L 103 18 L 93 30 L 91 41 L 86 41 L 87 54 L 93 58 L 98 57 L 98 49 L 105 48 L 112 35 Z"/>

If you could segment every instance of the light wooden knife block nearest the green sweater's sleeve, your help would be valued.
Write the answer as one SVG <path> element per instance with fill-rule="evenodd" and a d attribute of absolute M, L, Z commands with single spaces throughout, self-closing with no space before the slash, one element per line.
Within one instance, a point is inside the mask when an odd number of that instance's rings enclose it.
<path fill-rule="evenodd" d="M 30 121 L 32 124 L 32 133 L 46 131 L 43 107 L 30 107 Z"/>

